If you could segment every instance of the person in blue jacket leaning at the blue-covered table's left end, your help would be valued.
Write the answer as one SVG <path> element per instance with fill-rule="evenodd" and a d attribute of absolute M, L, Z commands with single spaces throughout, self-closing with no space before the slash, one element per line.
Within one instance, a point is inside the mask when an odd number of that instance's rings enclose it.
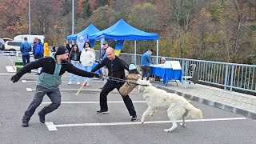
<path fill-rule="evenodd" d="M 150 64 L 154 64 L 154 62 L 152 62 L 150 58 L 152 53 L 153 53 L 153 50 L 147 50 L 146 53 L 142 54 L 142 58 L 141 58 L 142 80 L 146 72 L 148 73 L 146 76 L 146 80 L 149 80 L 152 74 L 150 70 Z"/>

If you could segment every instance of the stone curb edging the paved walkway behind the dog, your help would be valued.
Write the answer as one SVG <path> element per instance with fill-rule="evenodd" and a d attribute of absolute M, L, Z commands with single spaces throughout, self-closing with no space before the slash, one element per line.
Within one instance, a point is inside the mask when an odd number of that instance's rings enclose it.
<path fill-rule="evenodd" d="M 256 119 L 256 114 L 253 113 L 253 112 L 250 112 L 248 110 L 242 110 L 242 109 L 236 108 L 234 106 L 224 105 L 222 103 L 213 102 L 213 101 L 210 101 L 210 100 L 207 100 L 207 99 L 204 99 L 204 98 L 199 98 L 199 97 L 191 95 L 191 94 L 185 94 L 185 93 L 182 93 L 182 92 L 177 91 L 177 90 L 171 90 L 170 88 L 167 88 L 166 86 L 160 86 L 158 84 L 153 84 L 153 86 L 155 86 L 159 89 L 162 89 L 162 90 L 166 90 L 168 93 L 178 94 L 178 95 L 180 95 L 180 96 L 182 96 L 186 99 L 189 99 L 191 101 L 194 101 L 194 102 L 200 102 L 200 103 L 203 103 L 205 105 L 214 106 L 214 107 L 217 107 L 217 108 L 222 109 L 222 110 L 230 111 L 234 114 L 239 114 L 239 115 L 242 115 L 242 116 L 245 116 L 245 117 L 248 117 L 248 118 Z"/>

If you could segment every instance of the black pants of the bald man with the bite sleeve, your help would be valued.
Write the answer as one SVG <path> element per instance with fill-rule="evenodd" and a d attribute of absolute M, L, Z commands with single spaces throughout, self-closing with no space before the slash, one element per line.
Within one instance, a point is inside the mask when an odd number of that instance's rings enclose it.
<path fill-rule="evenodd" d="M 123 82 L 113 82 L 108 80 L 106 84 L 102 87 L 102 91 L 100 94 L 99 102 L 101 106 L 101 110 L 108 110 L 107 107 L 107 94 L 110 93 L 110 91 L 116 89 L 120 89 L 120 87 L 123 85 Z M 126 108 L 129 111 L 130 115 L 136 114 L 136 111 L 134 110 L 134 104 L 131 101 L 129 95 L 126 95 L 126 97 L 122 97 L 123 102 L 126 104 Z"/>

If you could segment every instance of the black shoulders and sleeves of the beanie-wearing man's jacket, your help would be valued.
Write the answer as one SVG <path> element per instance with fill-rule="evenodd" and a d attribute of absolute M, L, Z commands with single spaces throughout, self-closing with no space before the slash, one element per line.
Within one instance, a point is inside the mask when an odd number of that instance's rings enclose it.
<path fill-rule="evenodd" d="M 54 74 L 55 63 L 56 62 L 54 58 L 51 58 L 51 57 L 40 58 L 38 59 L 38 61 L 30 62 L 29 64 L 24 66 L 22 70 L 18 71 L 17 74 L 19 77 L 22 77 L 23 74 L 30 72 L 30 70 L 38 69 L 39 67 L 42 67 L 42 72 L 45 72 L 47 74 Z M 59 75 L 64 74 L 66 71 L 82 77 L 89 77 L 89 78 L 94 77 L 93 73 L 78 69 L 75 66 L 73 66 L 73 64 L 70 62 L 67 62 L 66 64 L 62 64 L 62 68 Z"/>

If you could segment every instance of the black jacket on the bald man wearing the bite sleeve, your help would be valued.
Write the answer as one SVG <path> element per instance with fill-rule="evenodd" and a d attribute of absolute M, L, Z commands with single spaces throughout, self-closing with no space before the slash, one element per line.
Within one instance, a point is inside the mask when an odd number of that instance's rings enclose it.
<path fill-rule="evenodd" d="M 106 66 L 107 69 L 109 70 L 108 76 L 114 77 L 114 78 L 125 79 L 126 78 L 125 70 L 129 70 L 129 66 L 127 65 L 127 63 L 122 58 L 115 56 L 114 60 L 112 61 L 109 58 L 104 58 L 91 71 L 95 72 L 96 70 L 100 69 L 103 66 Z"/>

